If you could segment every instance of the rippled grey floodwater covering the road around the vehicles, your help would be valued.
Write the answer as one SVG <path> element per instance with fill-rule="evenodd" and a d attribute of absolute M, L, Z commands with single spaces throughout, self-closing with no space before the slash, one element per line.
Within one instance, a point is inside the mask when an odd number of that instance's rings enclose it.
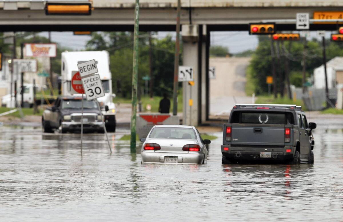
<path fill-rule="evenodd" d="M 315 120 L 312 120 L 315 121 Z M 1 221 L 343 221 L 343 123 L 317 121 L 315 164 L 142 165 L 129 141 L 0 126 Z"/>

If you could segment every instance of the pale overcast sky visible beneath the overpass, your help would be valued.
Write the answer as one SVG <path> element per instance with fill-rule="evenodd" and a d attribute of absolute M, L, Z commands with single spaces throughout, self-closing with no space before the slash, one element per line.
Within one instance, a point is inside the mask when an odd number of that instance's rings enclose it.
<path fill-rule="evenodd" d="M 330 32 L 326 32 L 326 37 L 330 38 Z M 42 32 L 39 35 L 48 37 L 47 32 Z M 158 32 L 158 38 L 164 38 L 167 35 L 173 36 L 175 32 Z M 309 39 L 317 37 L 317 32 L 311 32 Z M 61 46 L 68 47 L 74 50 L 85 49 L 86 42 L 90 36 L 73 35 L 73 32 L 51 32 L 51 40 L 59 43 Z M 238 53 L 248 49 L 256 49 L 258 39 L 254 35 L 249 35 L 248 32 L 211 32 L 211 45 L 221 45 L 228 47 L 230 53 Z"/>

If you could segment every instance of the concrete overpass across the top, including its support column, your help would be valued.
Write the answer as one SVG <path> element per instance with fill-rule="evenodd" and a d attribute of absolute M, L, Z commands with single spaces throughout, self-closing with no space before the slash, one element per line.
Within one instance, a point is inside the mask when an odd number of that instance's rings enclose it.
<path fill-rule="evenodd" d="M 0 3 L 0 29 L 6 31 L 132 31 L 134 0 L 94 0 L 92 15 L 45 15 L 46 1 Z M 68 1 L 48 1 L 68 2 Z M 141 31 L 175 31 L 177 0 L 140 0 Z M 248 31 L 250 22 L 275 21 L 277 30 L 295 30 L 296 13 L 343 11 L 337 0 L 181 0 L 183 64 L 194 67 L 195 85 L 184 84 L 184 124 L 198 125 L 209 114 L 210 32 Z M 310 24 L 311 30 L 335 30 L 336 24 Z M 173 73 L 171 73 L 173 75 Z M 192 91 L 192 115 L 186 101 Z M 226 93 L 223 90 L 223 93 Z"/>

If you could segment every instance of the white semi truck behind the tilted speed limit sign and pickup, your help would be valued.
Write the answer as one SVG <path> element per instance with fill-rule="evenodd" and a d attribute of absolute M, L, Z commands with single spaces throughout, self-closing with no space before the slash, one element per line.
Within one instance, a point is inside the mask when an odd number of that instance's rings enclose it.
<path fill-rule="evenodd" d="M 116 108 L 112 93 L 112 76 L 109 69 L 109 54 L 107 51 L 79 51 L 62 52 L 61 56 L 61 93 L 70 96 L 71 72 L 78 71 L 78 64 L 95 59 L 98 73 L 104 86 L 105 96 L 98 98 L 100 107 L 105 118 L 106 130 L 116 131 Z"/>

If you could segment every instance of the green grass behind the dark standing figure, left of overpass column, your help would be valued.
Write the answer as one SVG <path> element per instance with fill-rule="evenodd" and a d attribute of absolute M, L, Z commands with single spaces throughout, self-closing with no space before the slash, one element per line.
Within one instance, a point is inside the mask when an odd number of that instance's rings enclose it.
<path fill-rule="evenodd" d="M 146 106 L 150 104 L 151 110 L 150 112 L 158 112 L 158 107 L 159 107 L 159 101 L 161 101 L 162 97 L 161 96 L 154 96 L 153 98 L 150 98 L 149 96 L 143 96 L 141 97 L 142 101 L 142 110 L 143 112 L 146 112 Z M 173 98 L 169 98 L 170 100 L 170 110 L 169 112 L 173 112 Z M 129 103 L 131 104 L 131 99 L 127 98 L 119 98 L 116 97 L 113 99 L 114 103 Z M 177 111 L 182 112 L 182 92 L 178 95 L 178 102 L 177 102 Z"/>

